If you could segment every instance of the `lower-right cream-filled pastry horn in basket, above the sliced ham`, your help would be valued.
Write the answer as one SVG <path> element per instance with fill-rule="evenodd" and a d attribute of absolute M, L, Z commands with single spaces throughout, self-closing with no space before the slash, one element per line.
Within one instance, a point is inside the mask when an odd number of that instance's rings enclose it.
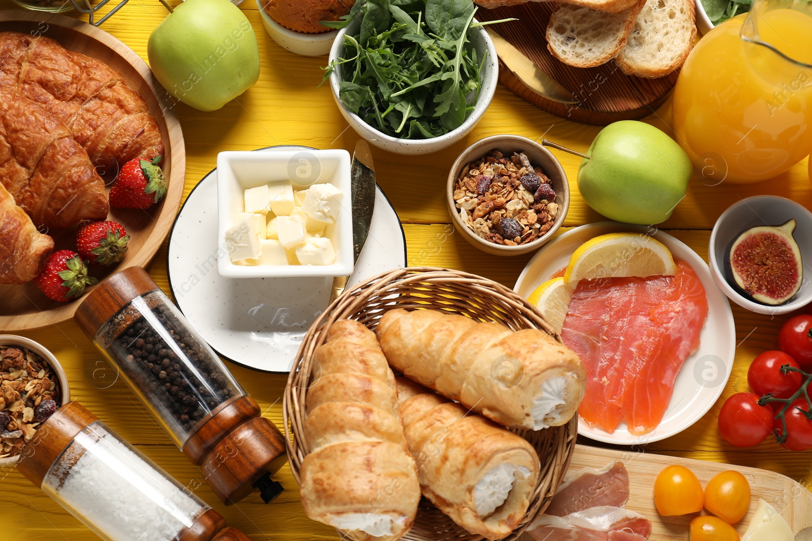
<path fill-rule="evenodd" d="M 510 535 L 538 482 L 533 446 L 419 384 L 398 378 L 397 385 L 423 496 L 471 534 Z"/>

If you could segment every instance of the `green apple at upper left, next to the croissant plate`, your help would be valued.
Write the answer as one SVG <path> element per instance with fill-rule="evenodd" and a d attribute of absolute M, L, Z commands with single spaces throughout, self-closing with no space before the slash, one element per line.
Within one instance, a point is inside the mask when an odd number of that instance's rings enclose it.
<path fill-rule="evenodd" d="M 251 23 L 229 0 L 187 0 L 147 42 L 149 66 L 166 91 L 214 111 L 259 79 L 259 46 Z"/>

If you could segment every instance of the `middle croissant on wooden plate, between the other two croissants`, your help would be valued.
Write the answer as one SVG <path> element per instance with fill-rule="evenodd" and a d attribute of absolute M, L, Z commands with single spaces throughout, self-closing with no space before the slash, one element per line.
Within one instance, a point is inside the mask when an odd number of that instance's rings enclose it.
<path fill-rule="evenodd" d="M 0 183 L 34 225 L 63 228 L 103 220 L 104 182 L 62 122 L 0 88 Z"/>

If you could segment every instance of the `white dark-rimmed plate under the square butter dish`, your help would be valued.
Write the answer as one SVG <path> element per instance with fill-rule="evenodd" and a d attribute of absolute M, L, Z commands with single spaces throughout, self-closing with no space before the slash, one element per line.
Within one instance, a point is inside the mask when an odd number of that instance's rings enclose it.
<path fill-rule="evenodd" d="M 261 152 L 306 147 L 263 148 Z M 223 358 L 290 371 L 310 324 L 327 307 L 331 277 L 223 278 L 217 273 L 217 170 L 192 189 L 169 234 L 166 273 L 175 303 Z M 380 188 L 349 286 L 406 266 L 406 238 Z"/>

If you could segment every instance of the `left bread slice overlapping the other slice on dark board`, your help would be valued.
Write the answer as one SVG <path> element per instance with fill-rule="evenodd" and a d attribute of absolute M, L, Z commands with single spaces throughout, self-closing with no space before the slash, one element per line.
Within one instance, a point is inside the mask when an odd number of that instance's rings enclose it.
<path fill-rule="evenodd" d="M 547 24 L 547 49 L 570 66 L 600 66 L 624 48 L 645 2 L 639 0 L 620 13 L 559 4 Z"/>

